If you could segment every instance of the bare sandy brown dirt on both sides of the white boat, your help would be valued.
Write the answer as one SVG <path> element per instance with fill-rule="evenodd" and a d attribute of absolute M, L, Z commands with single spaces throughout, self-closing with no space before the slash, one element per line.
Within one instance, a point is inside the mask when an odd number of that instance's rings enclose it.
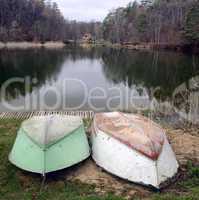
<path fill-rule="evenodd" d="M 183 166 L 188 160 L 199 163 L 199 135 L 195 134 L 198 130 L 193 130 L 192 134 L 182 129 L 167 129 L 166 131 L 181 169 L 183 169 Z M 69 171 L 65 173 L 66 179 L 72 181 L 78 180 L 86 184 L 94 184 L 96 185 L 96 192 L 98 194 L 114 192 L 116 195 L 124 196 L 127 199 L 133 196 L 147 199 L 152 193 L 152 189 L 129 183 L 128 181 L 106 173 L 91 159 L 86 160 L 80 165 L 81 167 L 77 166 L 69 169 Z"/>

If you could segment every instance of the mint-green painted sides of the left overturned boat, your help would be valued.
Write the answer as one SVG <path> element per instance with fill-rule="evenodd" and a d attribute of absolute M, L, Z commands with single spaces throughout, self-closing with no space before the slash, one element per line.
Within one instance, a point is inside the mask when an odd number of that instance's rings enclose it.
<path fill-rule="evenodd" d="M 75 165 L 89 156 L 88 140 L 81 125 L 47 149 L 39 147 L 20 129 L 9 160 L 23 170 L 45 174 Z"/>

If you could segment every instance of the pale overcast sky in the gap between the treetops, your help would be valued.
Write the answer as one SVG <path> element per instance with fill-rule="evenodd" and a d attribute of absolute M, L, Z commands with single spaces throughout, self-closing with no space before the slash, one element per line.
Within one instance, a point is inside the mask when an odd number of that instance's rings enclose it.
<path fill-rule="evenodd" d="M 53 0 L 65 18 L 77 21 L 102 21 L 113 8 L 126 6 L 131 0 Z"/>

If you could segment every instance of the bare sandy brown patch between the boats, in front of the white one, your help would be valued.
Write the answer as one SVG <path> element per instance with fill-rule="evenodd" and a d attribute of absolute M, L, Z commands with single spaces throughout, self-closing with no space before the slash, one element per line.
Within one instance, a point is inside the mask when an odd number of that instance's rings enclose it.
<path fill-rule="evenodd" d="M 144 186 L 129 183 L 126 180 L 105 172 L 91 159 L 83 162 L 81 167 L 71 169 L 69 173 L 66 173 L 66 179 L 95 185 L 95 192 L 99 195 L 112 192 L 115 195 L 124 196 L 129 199 L 133 196 L 145 198 L 152 192 Z"/>

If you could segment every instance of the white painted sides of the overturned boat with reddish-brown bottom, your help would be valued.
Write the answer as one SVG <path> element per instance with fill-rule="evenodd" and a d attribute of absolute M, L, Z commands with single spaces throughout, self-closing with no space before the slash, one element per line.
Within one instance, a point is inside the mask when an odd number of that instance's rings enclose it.
<path fill-rule="evenodd" d="M 178 162 L 166 136 L 156 160 L 100 130 L 95 119 L 91 141 L 96 164 L 123 179 L 159 188 L 178 171 Z"/>

